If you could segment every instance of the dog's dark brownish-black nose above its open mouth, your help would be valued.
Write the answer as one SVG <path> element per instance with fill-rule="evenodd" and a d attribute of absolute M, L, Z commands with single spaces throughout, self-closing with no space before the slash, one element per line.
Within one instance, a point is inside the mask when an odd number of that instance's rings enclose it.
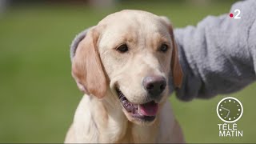
<path fill-rule="evenodd" d="M 166 78 L 163 78 L 162 76 L 150 76 L 144 78 L 142 84 L 144 89 L 151 96 L 156 97 L 166 89 Z"/>

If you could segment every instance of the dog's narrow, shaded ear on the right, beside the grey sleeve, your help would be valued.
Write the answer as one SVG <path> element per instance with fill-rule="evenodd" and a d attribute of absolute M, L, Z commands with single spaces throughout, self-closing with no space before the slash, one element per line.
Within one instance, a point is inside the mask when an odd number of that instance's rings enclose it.
<path fill-rule="evenodd" d="M 173 47 L 170 67 L 171 67 L 171 72 L 172 72 L 172 76 L 173 76 L 174 86 L 177 88 L 180 88 L 182 86 L 183 72 L 182 72 L 182 66 L 180 65 L 180 63 L 178 61 L 178 47 L 177 47 L 177 44 L 174 39 L 173 27 L 168 18 L 166 18 L 164 16 L 162 16 L 160 18 L 162 18 L 162 21 L 165 22 L 166 25 L 168 26 L 168 30 L 170 33 L 170 38 L 171 38 L 172 47 Z"/>

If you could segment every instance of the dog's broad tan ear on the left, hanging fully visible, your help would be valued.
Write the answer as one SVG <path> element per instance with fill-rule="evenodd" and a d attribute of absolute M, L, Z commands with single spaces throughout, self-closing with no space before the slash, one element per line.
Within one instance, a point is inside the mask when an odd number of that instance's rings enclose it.
<path fill-rule="evenodd" d="M 102 98 L 106 94 L 106 77 L 98 54 L 99 32 L 92 28 L 78 34 L 71 44 L 72 76 L 84 93 Z"/>

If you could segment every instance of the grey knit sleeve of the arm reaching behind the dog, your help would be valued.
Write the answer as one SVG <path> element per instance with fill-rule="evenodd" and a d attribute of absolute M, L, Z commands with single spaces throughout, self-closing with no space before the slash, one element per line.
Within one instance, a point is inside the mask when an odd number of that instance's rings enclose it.
<path fill-rule="evenodd" d="M 197 26 L 174 30 L 184 78 L 178 98 L 211 98 L 254 82 L 256 71 L 256 1 L 235 3 L 240 19 L 208 16 Z"/>

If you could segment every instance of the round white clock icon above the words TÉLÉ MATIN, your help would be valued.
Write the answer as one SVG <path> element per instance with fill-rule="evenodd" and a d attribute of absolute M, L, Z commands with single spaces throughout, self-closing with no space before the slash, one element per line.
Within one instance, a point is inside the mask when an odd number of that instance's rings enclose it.
<path fill-rule="evenodd" d="M 223 122 L 237 122 L 243 113 L 242 103 L 233 97 L 223 98 L 217 105 L 217 114 Z"/>

